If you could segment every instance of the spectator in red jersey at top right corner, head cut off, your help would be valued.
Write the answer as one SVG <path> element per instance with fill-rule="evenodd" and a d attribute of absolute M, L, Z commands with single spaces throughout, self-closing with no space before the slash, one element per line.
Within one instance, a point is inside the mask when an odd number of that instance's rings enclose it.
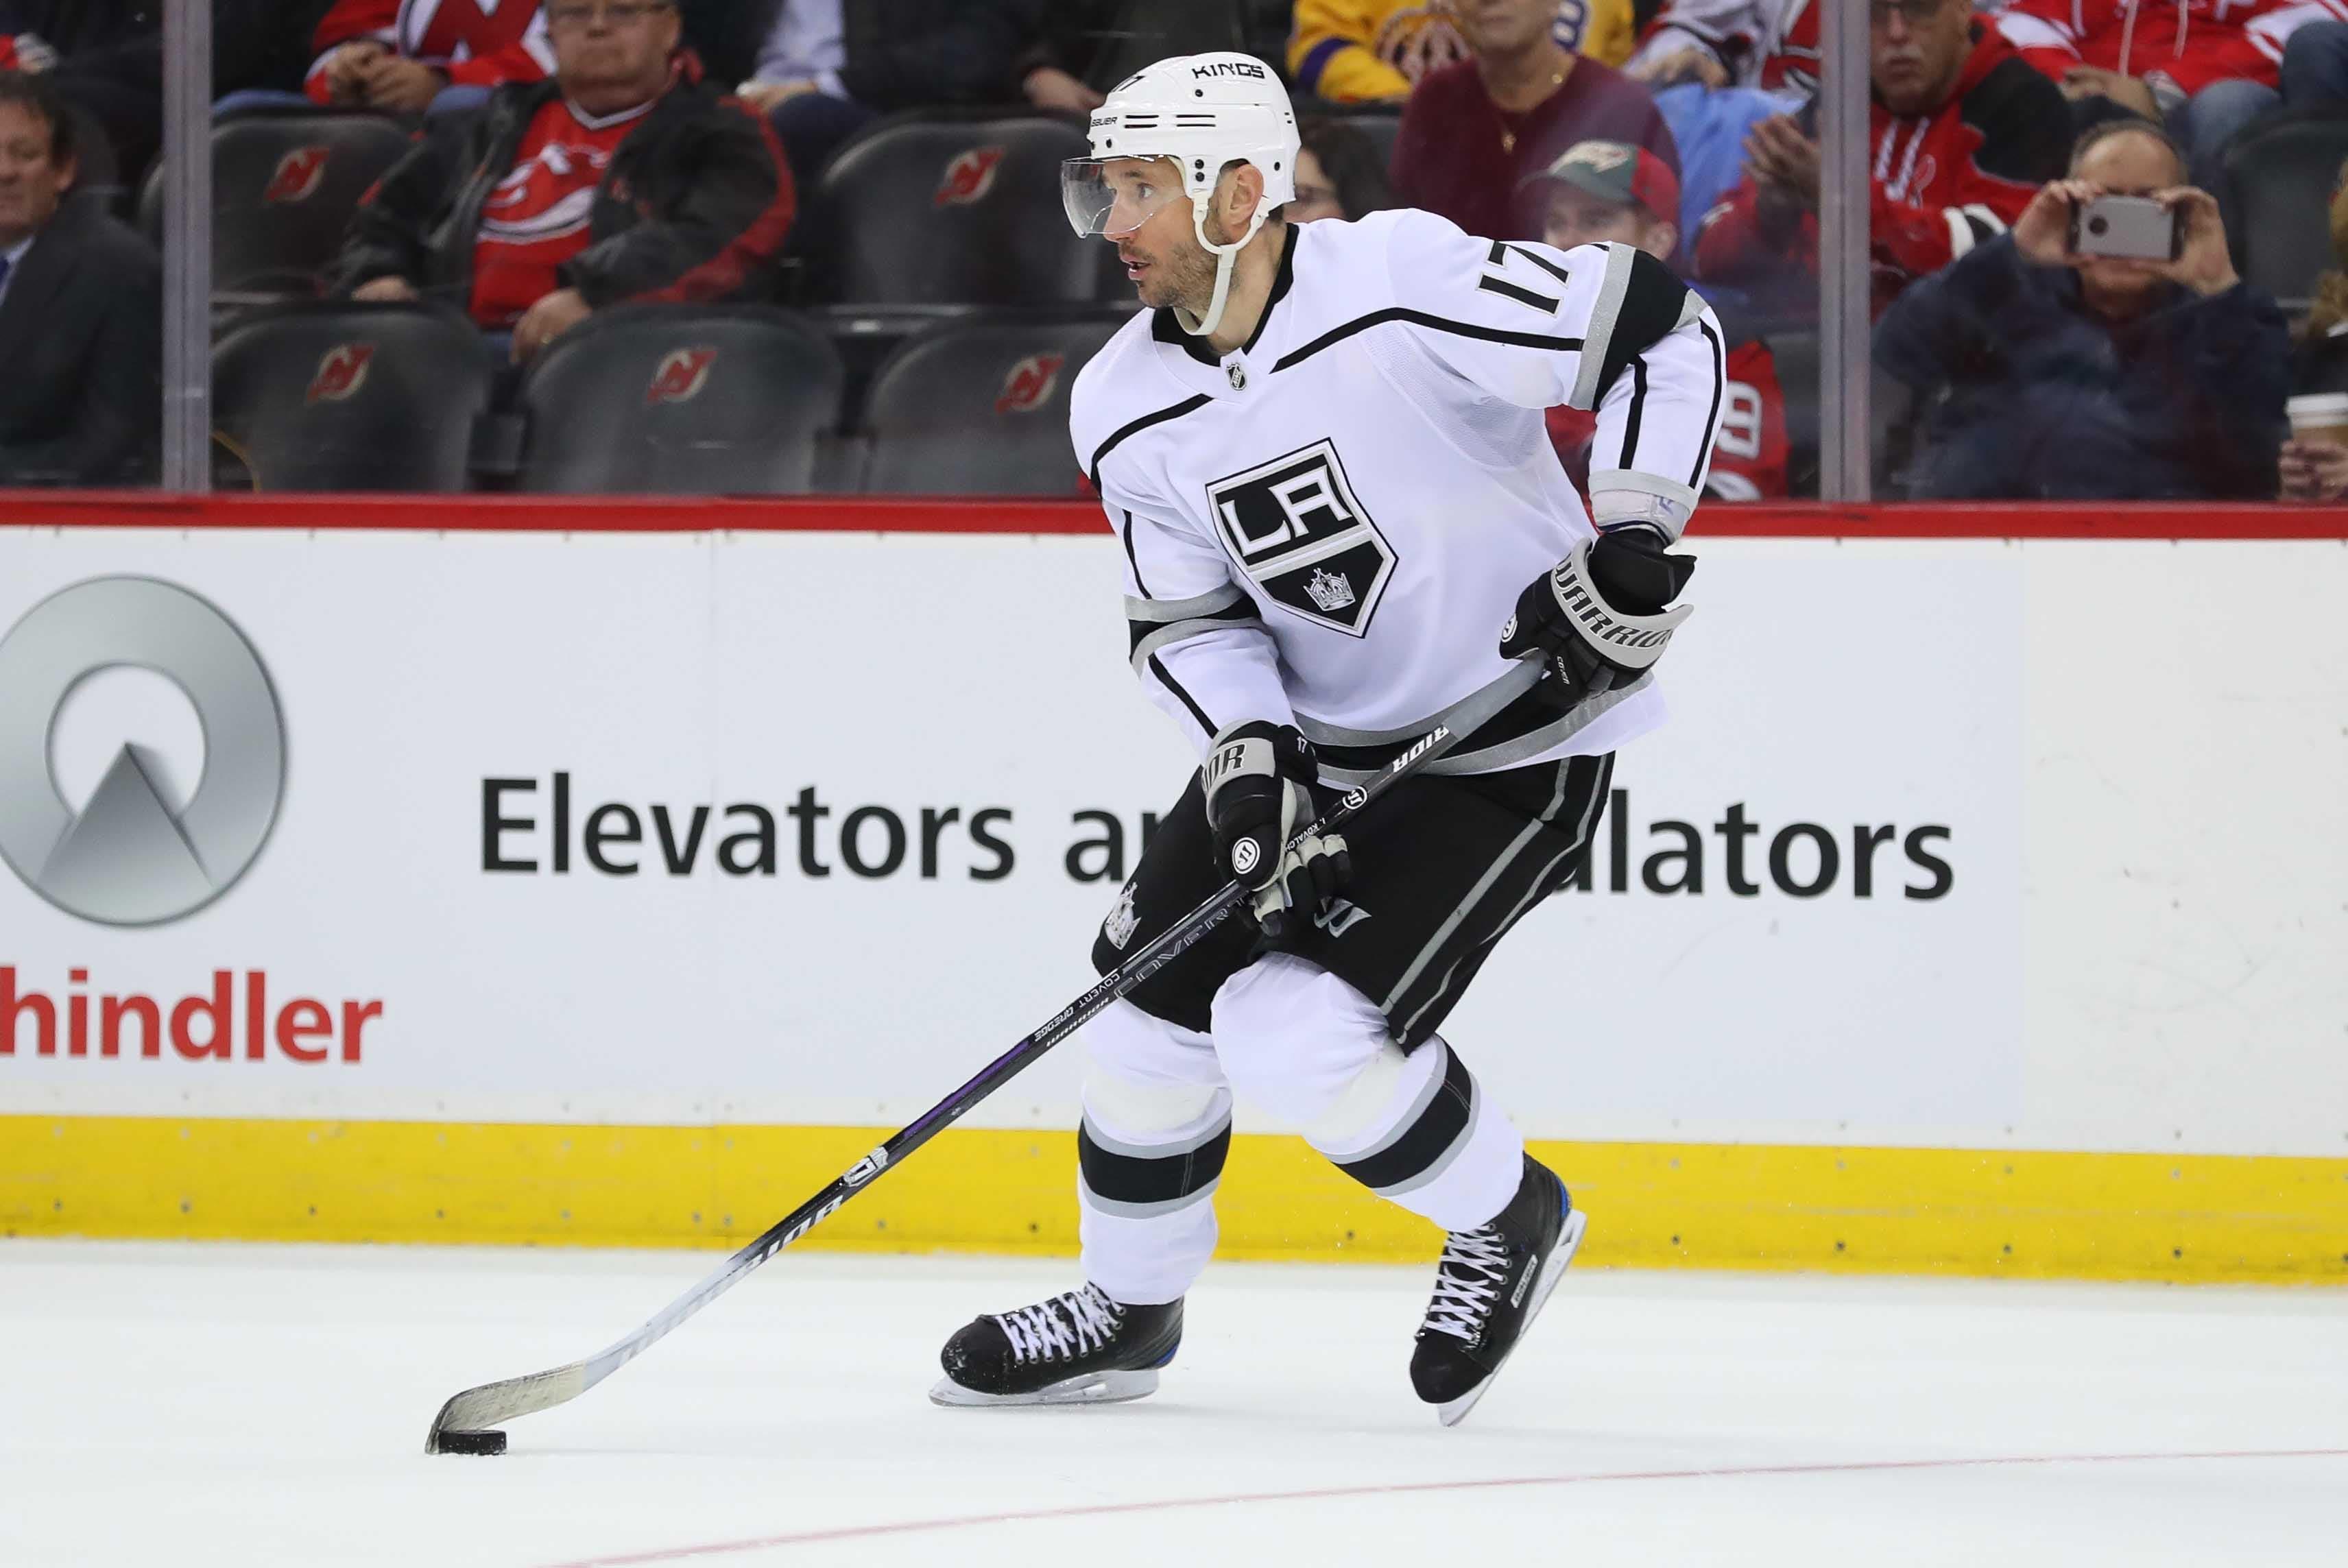
<path fill-rule="evenodd" d="M 2217 183 L 2226 143 L 2278 99 L 2348 99 L 2348 49 L 2317 28 L 2282 75 L 2292 35 L 2336 21 L 2325 0 L 2012 0 L 1998 28 L 2078 106 L 2167 124 L 2195 181 Z"/>

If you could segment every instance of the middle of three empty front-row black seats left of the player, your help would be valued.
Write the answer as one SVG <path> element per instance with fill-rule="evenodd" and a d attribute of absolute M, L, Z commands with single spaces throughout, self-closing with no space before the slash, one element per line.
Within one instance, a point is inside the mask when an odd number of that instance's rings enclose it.
<path fill-rule="evenodd" d="M 772 305 L 620 305 L 521 383 L 526 491 L 796 495 L 838 423 L 841 359 Z"/>

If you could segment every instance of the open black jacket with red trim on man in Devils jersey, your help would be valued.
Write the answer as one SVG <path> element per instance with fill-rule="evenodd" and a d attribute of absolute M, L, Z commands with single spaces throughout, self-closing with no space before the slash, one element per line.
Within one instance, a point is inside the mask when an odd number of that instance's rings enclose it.
<path fill-rule="evenodd" d="M 479 115 L 427 122 L 350 221 L 333 293 L 404 277 L 425 298 L 472 305 L 481 204 L 521 150 L 556 82 L 507 82 Z M 603 174 L 587 249 L 559 270 L 589 305 L 756 298 L 791 228 L 794 192 L 765 122 L 688 73 L 653 106 Z"/>

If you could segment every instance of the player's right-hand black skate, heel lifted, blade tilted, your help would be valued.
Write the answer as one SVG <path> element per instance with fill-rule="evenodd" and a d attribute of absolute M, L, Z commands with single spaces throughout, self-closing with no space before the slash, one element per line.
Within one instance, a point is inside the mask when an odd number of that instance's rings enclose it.
<path fill-rule="evenodd" d="M 1583 1216 L 1550 1167 L 1524 1157 L 1524 1181 L 1489 1225 L 1453 1230 L 1435 1265 L 1435 1298 L 1411 1352 L 1411 1387 L 1456 1427 L 1500 1376 L 1507 1352 L 1566 1275 Z"/>

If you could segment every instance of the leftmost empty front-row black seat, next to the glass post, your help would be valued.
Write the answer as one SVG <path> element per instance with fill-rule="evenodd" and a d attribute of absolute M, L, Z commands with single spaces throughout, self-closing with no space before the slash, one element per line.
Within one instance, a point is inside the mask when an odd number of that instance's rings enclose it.
<path fill-rule="evenodd" d="M 221 444 L 261 491 L 463 491 L 495 364 L 430 305 L 272 305 L 211 350 Z"/>

